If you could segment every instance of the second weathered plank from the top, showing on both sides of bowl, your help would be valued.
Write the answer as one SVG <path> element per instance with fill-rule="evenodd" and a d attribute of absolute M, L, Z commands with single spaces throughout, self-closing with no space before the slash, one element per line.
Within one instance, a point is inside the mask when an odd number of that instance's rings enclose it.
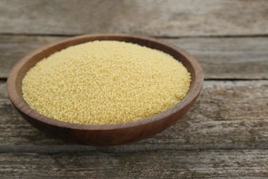
<path fill-rule="evenodd" d="M 63 36 L 0 35 L 0 78 L 36 48 Z M 268 78 L 268 37 L 161 39 L 196 56 L 205 78 Z"/>

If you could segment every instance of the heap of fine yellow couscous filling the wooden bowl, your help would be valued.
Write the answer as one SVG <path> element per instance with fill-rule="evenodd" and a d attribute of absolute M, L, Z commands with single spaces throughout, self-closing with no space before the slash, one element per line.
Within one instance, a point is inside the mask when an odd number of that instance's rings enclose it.
<path fill-rule="evenodd" d="M 23 78 L 36 112 L 68 123 L 114 124 L 179 103 L 190 74 L 169 54 L 133 43 L 92 41 L 38 62 Z"/>

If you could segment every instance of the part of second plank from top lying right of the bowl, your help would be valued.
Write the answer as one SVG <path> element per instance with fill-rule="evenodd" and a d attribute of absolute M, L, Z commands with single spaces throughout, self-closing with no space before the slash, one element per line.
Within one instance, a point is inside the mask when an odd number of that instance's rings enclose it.
<path fill-rule="evenodd" d="M 268 37 L 165 40 L 196 56 L 207 79 L 268 78 Z"/>

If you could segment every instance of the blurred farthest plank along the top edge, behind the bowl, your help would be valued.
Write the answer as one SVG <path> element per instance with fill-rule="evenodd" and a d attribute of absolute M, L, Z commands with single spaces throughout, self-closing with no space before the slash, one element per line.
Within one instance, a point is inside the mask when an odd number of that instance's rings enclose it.
<path fill-rule="evenodd" d="M 268 34 L 266 0 L 0 1 L 0 33 Z"/>

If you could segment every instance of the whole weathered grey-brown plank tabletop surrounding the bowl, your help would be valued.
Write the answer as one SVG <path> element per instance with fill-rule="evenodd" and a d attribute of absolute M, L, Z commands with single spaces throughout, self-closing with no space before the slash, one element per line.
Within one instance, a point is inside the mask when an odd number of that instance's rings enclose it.
<path fill-rule="evenodd" d="M 268 177 L 268 2 L 0 1 L 0 176 Z M 25 54 L 77 34 L 123 32 L 174 43 L 205 71 L 176 125 L 115 147 L 45 136 L 16 114 L 8 72 Z"/>

